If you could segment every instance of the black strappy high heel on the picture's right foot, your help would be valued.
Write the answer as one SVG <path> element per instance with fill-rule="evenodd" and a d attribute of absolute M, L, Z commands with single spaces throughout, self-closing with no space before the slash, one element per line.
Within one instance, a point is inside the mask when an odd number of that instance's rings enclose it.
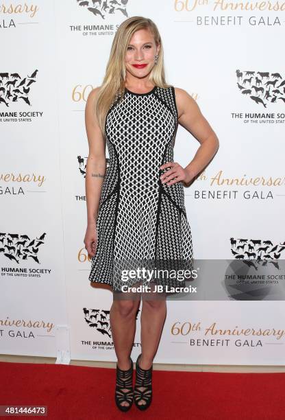
<path fill-rule="evenodd" d="M 134 404 L 138 407 L 139 410 L 146 410 L 151 405 L 152 400 L 152 364 L 149 369 L 142 369 L 139 364 L 138 360 L 140 359 L 140 355 L 136 360 L 136 384 L 134 386 Z M 139 388 L 145 388 L 140 390 Z M 138 401 L 143 399 L 145 404 L 138 404 Z"/>

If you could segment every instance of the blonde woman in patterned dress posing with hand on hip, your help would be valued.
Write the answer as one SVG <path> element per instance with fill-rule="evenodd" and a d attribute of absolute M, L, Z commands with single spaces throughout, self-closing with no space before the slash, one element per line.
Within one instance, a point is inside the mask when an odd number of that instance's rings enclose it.
<path fill-rule="evenodd" d="M 186 167 L 173 162 L 178 124 L 201 143 Z M 92 257 L 89 279 L 110 285 L 121 298 L 113 299 L 110 310 L 118 359 L 116 405 L 127 411 L 134 401 L 145 410 L 152 399 L 152 362 L 166 317 L 166 300 L 143 299 L 142 349 L 133 388 L 130 353 L 140 298 L 134 290 L 123 288 L 125 280 L 116 273 L 122 273 L 122 261 L 131 260 L 128 267 L 134 267 L 137 261 L 192 259 L 183 184 L 188 185 L 206 167 L 219 147 L 195 100 L 183 89 L 166 84 L 162 40 L 150 19 L 132 16 L 118 28 L 103 84 L 88 95 L 86 132 L 84 244 Z M 114 261 L 119 261 L 117 271 Z M 127 285 L 139 283 L 138 278 L 129 278 Z"/>

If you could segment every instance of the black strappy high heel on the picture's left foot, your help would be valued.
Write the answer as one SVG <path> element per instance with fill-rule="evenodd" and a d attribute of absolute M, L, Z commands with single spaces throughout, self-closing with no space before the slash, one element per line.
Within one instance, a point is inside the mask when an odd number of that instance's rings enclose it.
<path fill-rule="evenodd" d="M 133 389 L 133 371 L 134 364 L 132 358 L 129 358 L 131 361 L 131 367 L 127 371 L 122 371 L 116 364 L 116 390 L 115 390 L 115 401 L 116 406 L 121 411 L 128 411 L 133 404 L 134 400 L 134 389 Z M 122 406 L 121 403 L 127 401 L 128 406 Z"/>

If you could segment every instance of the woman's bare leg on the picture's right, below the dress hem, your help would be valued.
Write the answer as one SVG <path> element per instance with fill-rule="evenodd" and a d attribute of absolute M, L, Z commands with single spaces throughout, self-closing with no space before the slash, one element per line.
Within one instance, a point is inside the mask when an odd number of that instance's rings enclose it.
<path fill-rule="evenodd" d="M 142 355 L 139 360 L 139 366 L 142 369 L 150 369 L 151 367 L 158 349 L 165 318 L 165 299 L 143 299 L 143 309 L 140 316 Z M 144 390 L 145 387 L 140 386 L 138 389 Z M 140 399 L 138 404 L 146 404 L 146 401 Z"/>

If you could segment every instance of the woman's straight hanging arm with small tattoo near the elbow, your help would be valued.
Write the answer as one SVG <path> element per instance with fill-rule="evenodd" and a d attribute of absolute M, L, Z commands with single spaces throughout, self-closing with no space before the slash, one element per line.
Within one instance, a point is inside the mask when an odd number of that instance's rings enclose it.
<path fill-rule="evenodd" d="M 86 163 L 86 205 L 87 205 L 87 229 L 84 237 L 85 248 L 93 257 L 97 248 L 97 214 L 101 189 L 106 174 L 106 142 L 99 128 L 94 112 L 99 87 L 89 93 L 85 107 L 85 126 L 88 138 L 89 154 Z"/>

